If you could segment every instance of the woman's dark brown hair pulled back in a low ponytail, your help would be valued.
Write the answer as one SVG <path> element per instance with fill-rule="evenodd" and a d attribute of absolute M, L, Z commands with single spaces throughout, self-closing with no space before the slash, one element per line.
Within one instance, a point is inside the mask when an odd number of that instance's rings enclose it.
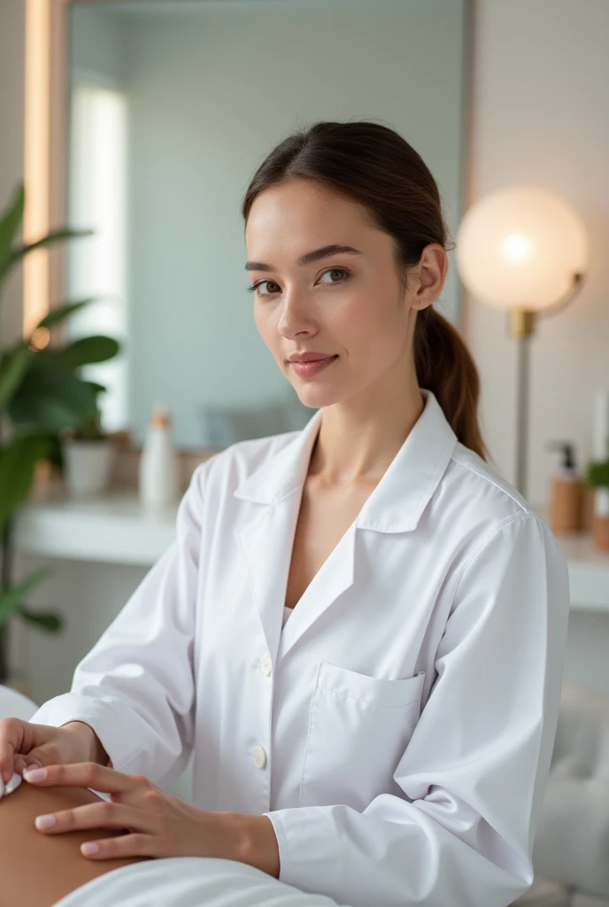
<path fill-rule="evenodd" d="M 394 240 L 396 268 L 407 270 L 431 242 L 447 248 L 436 180 L 398 132 L 375 122 L 315 122 L 280 141 L 258 167 L 243 200 L 287 180 L 313 180 L 362 205 L 372 225 Z M 421 309 L 413 338 L 420 387 L 429 388 L 461 444 L 488 459 L 478 426 L 478 369 L 459 332 L 432 306 Z"/>

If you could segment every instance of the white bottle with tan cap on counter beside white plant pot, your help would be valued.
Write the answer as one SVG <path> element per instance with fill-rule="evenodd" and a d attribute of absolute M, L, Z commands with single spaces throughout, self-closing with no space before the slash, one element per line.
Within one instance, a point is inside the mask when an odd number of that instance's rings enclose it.
<path fill-rule="evenodd" d="M 140 502 L 147 508 L 169 507 L 178 500 L 178 455 L 171 419 L 160 401 L 152 414 L 140 455 Z"/>

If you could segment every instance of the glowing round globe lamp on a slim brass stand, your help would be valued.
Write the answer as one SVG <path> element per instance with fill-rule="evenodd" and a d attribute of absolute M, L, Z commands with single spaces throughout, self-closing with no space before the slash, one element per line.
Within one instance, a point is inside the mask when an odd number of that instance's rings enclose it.
<path fill-rule="evenodd" d="M 517 340 L 516 486 L 526 496 L 529 339 L 536 318 L 555 315 L 584 282 L 584 222 L 555 192 L 509 186 L 483 196 L 466 211 L 455 254 L 469 294 L 505 309 L 509 333 Z"/>

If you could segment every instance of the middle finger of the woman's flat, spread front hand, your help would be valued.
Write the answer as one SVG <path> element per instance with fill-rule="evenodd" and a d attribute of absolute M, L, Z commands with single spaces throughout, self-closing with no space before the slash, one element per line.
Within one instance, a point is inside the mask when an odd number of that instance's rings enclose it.
<path fill-rule="evenodd" d="M 37 815 L 34 825 L 44 834 L 62 834 L 83 828 L 126 828 L 129 831 L 155 834 L 158 822 L 156 817 L 145 809 L 102 800 L 100 803 Z"/>

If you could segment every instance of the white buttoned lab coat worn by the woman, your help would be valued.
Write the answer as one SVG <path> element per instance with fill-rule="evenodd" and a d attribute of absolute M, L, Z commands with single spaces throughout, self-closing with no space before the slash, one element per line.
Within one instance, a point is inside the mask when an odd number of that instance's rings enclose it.
<path fill-rule="evenodd" d="M 352 907 L 505 907 L 533 881 L 569 610 L 546 522 L 436 397 L 282 617 L 302 431 L 198 465 L 177 539 L 32 721 L 265 814 L 279 879 Z"/>

